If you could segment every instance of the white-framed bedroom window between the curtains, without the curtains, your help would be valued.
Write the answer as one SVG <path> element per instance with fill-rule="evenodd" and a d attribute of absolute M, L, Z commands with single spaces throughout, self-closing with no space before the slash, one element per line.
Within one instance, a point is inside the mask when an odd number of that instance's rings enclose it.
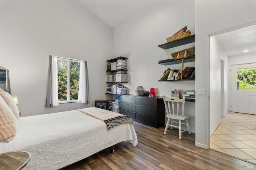
<path fill-rule="evenodd" d="M 57 58 L 58 101 L 76 102 L 79 90 L 80 62 Z"/>

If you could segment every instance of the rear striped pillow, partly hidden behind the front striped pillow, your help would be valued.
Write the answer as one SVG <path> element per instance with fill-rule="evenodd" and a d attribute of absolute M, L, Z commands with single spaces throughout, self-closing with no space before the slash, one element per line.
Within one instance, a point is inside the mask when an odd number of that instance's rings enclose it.
<path fill-rule="evenodd" d="M 12 96 L 8 92 L 6 92 L 0 88 L 0 97 L 2 97 L 4 102 L 6 102 L 6 104 L 10 107 L 10 109 L 12 110 L 12 112 L 14 113 L 14 115 L 16 116 L 16 118 L 18 120 L 20 117 L 20 113 L 19 113 L 18 106 L 16 105 Z"/>

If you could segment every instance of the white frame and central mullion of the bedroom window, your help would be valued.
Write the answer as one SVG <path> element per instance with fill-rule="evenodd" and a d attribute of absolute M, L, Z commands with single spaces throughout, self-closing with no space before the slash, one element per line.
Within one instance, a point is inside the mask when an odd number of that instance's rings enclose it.
<path fill-rule="evenodd" d="M 58 104 L 77 102 L 78 99 L 70 100 L 70 62 L 81 63 L 83 61 L 82 60 L 76 60 L 76 59 L 68 59 L 68 58 L 63 58 L 63 57 L 56 57 L 56 58 L 57 58 L 57 61 L 58 60 L 67 61 L 67 100 L 63 100 L 63 101 L 58 100 Z M 57 70 L 58 70 L 58 66 L 57 66 Z M 80 70 L 79 70 L 79 74 L 80 74 Z"/>

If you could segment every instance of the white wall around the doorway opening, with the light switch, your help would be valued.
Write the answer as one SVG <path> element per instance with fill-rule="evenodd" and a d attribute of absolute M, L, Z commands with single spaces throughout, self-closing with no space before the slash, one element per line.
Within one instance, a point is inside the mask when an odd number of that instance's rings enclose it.
<path fill-rule="evenodd" d="M 196 97 L 196 146 L 209 147 L 208 35 L 255 22 L 255 9 L 255 0 L 196 0 L 196 90 L 206 89 Z"/>

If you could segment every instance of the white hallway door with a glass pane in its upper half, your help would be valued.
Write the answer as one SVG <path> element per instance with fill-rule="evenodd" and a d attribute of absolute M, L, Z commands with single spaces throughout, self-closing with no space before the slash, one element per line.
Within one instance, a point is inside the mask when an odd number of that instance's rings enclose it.
<path fill-rule="evenodd" d="M 256 115 L 256 63 L 231 66 L 231 111 Z"/>

